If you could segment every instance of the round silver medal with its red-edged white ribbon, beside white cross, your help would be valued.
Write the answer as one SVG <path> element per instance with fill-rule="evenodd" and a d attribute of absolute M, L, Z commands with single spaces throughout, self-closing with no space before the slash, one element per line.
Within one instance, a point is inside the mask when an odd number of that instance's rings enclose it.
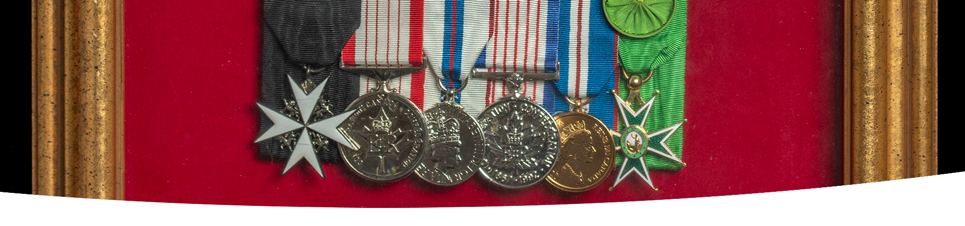
<path fill-rule="evenodd" d="M 402 96 L 390 81 L 422 74 L 422 1 L 365 0 L 361 24 L 342 51 L 341 68 L 375 80 L 368 94 L 346 109 L 356 112 L 339 130 L 352 142 L 340 145 L 342 159 L 355 174 L 378 183 L 411 174 L 428 145 L 420 105 Z"/>

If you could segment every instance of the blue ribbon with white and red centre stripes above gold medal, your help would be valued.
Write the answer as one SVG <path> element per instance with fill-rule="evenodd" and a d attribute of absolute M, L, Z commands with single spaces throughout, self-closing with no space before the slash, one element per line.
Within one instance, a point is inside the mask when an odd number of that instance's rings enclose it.
<path fill-rule="evenodd" d="M 584 105 L 591 115 L 609 127 L 616 127 L 616 102 L 608 93 L 619 85 L 618 33 L 607 22 L 598 0 L 560 0 L 560 80 L 551 83 L 560 92 L 554 115 L 569 110 L 570 99 L 593 98 Z"/>

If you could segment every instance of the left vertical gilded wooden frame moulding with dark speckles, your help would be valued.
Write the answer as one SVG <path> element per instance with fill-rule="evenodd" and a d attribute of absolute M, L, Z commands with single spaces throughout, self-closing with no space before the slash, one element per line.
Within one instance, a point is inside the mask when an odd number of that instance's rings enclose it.
<path fill-rule="evenodd" d="M 33 194 L 124 199 L 123 9 L 32 1 Z"/>

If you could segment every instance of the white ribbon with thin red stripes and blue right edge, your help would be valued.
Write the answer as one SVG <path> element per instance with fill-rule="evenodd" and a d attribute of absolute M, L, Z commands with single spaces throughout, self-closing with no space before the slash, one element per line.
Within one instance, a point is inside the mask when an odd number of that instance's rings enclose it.
<path fill-rule="evenodd" d="M 491 35 L 476 61 L 477 71 L 556 72 L 559 0 L 492 0 L 488 13 Z M 460 102 L 470 115 L 510 92 L 506 81 L 474 78 L 472 84 Z M 519 92 L 543 107 L 555 104 L 555 91 L 545 81 L 526 82 Z"/>

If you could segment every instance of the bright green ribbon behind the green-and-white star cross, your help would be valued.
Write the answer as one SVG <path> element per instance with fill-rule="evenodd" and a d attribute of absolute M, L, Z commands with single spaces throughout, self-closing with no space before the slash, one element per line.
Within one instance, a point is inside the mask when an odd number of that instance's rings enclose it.
<path fill-rule="evenodd" d="M 683 75 L 687 45 L 687 1 L 677 0 L 673 19 L 660 33 L 644 39 L 620 36 L 618 51 L 620 64 L 628 71 L 650 71 L 653 76 L 640 88 L 641 96 L 648 99 L 657 90 L 647 119 L 648 132 L 657 131 L 683 122 Z M 644 73 L 646 76 L 647 73 Z M 620 98 L 626 99 L 629 89 L 626 80 L 620 79 Z M 639 105 L 632 106 L 634 108 Z M 623 129 L 623 125 L 619 126 Z M 667 140 L 667 146 L 683 158 L 683 127 Z M 625 156 L 617 155 L 617 165 Z M 680 170 L 683 164 L 660 155 L 644 155 L 648 168 Z"/>

